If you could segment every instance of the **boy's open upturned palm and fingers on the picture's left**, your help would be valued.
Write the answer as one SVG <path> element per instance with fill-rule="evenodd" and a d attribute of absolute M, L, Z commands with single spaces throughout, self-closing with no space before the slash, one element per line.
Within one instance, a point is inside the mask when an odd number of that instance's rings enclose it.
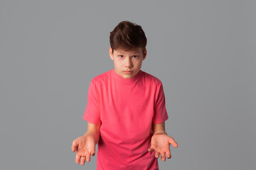
<path fill-rule="evenodd" d="M 91 135 L 85 135 L 78 137 L 77 139 L 73 140 L 72 143 L 72 151 L 76 152 L 75 156 L 75 163 L 79 164 L 81 159 L 81 165 L 85 164 L 85 160 L 90 162 L 90 155 L 95 156 L 95 140 Z"/>

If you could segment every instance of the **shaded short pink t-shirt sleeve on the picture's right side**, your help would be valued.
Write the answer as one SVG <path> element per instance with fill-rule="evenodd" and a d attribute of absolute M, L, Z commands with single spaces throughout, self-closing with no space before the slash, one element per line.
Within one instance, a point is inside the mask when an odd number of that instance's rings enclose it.
<path fill-rule="evenodd" d="M 159 86 L 159 93 L 154 106 L 154 117 L 153 117 L 152 123 L 154 124 L 163 123 L 168 118 L 169 117 L 166 111 L 164 88 L 163 88 L 163 84 L 161 84 Z"/>

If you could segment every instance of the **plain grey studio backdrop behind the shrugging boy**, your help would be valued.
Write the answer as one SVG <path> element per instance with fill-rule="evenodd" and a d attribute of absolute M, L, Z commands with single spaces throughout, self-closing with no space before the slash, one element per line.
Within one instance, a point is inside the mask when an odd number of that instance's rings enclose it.
<path fill-rule="evenodd" d="M 110 31 L 138 23 L 142 70 L 164 84 L 160 169 L 255 169 L 255 1 L 0 1 L 0 169 L 75 164 L 90 80 L 114 68 Z"/>

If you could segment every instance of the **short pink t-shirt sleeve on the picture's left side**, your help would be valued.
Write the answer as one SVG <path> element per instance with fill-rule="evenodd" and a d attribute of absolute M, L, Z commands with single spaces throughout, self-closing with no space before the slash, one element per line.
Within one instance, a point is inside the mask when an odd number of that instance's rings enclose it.
<path fill-rule="evenodd" d="M 98 102 L 97 89 L 95 88 L 95 84 L 91 81 L 87 94 L 87 106 L 85 108 L 85 114 L 82 117 L 89 123 L 100 123 L 100 107 Z"/>

